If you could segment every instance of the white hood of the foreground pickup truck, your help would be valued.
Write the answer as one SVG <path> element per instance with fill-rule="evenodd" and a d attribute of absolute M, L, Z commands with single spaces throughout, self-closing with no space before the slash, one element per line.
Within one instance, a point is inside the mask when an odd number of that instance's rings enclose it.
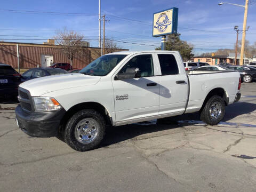
<path fill-rule="evenodd" d="M 100 80 L 99 76 L 89 76 L 80 73 L 51 75 L 31 79 L 20 84 L 20 87 L 30 92 L 31 96 L 40 96 L 52 91 L 86 85 L 94 85 Z"/>

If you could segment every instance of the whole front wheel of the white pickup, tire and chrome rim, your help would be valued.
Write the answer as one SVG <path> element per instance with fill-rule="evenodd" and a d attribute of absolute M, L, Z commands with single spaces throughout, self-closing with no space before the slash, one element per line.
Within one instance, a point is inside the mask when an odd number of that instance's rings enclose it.
<path fill-rule="evenodd" d="M 94 109 L 83 109 L 70 117 L 66 124 L 65 142 L 77 151 L 97 147 L 105 136 L 106 122 Z"/>

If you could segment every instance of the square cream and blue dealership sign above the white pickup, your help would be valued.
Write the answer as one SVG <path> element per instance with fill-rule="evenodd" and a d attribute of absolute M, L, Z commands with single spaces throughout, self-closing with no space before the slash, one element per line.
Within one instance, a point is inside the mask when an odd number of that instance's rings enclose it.
<path fill-rule="evenodd" d="M 177 33 L 178 8 L 163 10 L 153 15 L 153 36 L 163 36 Z"/>

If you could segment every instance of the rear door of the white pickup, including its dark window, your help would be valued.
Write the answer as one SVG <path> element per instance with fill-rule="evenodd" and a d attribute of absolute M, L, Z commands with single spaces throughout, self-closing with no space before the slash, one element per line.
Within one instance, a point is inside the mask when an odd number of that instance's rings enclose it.
<path fill-rule="evenodd" d="M 157 54 L 161 76 L 159 115 L 179 115 L 185 111 L 188 98 L 188 78 L 178 54 Z"/>

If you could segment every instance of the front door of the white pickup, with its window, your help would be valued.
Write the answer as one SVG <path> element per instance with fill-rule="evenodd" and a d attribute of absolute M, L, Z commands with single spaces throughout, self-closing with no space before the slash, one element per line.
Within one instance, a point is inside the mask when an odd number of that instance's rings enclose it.
<path fill-rule="evenodd" d="M 125 73 L 127 68 L 135 67 L 140 69 L 141 77 L 123 80 L 113 78 L 116 122 L 158 115 L 160 90 L 159 76 L 155 75 L 155 61 L 156 55 L 134 55 L 118 73 Z"/>

